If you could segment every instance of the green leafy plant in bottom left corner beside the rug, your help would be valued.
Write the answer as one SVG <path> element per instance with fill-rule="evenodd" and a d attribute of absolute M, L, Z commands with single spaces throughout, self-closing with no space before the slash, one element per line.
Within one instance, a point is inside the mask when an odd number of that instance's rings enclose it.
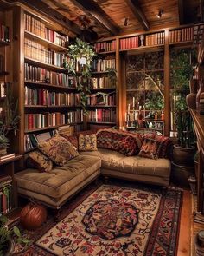
<path fill-rule="evenodd" d="M 17 226 L 9 229 L 7 224 L 8 218 L 2 215 L 0 217 L 0 255 L 22 253 L 28 248 L 30 240 L 22 236 Z"/>

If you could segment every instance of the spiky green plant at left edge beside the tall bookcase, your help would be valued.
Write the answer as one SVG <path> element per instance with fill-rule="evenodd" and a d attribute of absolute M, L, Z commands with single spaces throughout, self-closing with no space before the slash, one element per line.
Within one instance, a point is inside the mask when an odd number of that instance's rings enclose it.
<path fill-rule="evenodd" d="M 0 116 L 0 155 L 6 154 L 10 141 L 8 135 L 11 131 L 16 135 L 20 116 L 17 115 L 18 102 L 14 103 L 10 84 L 6 85 L 6 97 L 3 102 L 3 113 Z"/>

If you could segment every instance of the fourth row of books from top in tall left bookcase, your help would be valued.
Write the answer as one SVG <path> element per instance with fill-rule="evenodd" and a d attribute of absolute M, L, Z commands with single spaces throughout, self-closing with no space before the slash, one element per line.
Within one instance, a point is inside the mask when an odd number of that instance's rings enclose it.
<path fill-rule="evenodd" d="M 25 86 L 25 106 L 79 106 L 80 94 L 56 93 Z"/>

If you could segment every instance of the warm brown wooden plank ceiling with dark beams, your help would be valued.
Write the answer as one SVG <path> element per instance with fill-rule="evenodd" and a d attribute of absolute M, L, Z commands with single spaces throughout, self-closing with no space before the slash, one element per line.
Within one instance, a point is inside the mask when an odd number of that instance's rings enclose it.
<path fill-rule="evenodd" d="M 21 0 L 20 0 L 21 1 Z M 88 31 L 92 39 L 177 27 L 201 22 L 203 0 L 22 0 L 60 14 L 77 28 Z M 41 4 L 40 4 L 41 3 Z M 47 9 L 47 10 L 46 10 Z M 162 12 L 161 18 L 157 15 Z"/>

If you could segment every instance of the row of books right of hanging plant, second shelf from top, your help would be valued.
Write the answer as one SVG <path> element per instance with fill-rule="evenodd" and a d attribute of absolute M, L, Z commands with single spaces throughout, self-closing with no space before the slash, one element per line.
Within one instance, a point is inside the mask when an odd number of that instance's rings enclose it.
<path fill-rule="evenodd" d="M 106 69 L 116 69 L 116 59 L 94 59 L 92 62 L 92 71 L 104 72 Z"/>

